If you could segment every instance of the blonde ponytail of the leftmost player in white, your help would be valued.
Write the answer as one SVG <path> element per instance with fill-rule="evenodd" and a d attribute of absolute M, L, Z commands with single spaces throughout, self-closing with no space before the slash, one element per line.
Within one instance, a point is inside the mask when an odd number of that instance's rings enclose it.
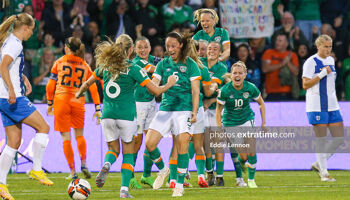
<path fill-rule="evenodd" d="M 27 13 L 12 15 L 0 25 L 0 47 L 9 35 L 9 32 L 20 28 L 23 25 L 33 26 L 34 19 Z"/>

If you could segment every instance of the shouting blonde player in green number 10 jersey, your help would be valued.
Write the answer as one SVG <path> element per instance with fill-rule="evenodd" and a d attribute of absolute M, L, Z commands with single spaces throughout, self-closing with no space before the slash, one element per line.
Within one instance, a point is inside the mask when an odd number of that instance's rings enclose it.
<path fill-rule="evenodd" d="M 259 89 L 253 83 L 244 80 L 246 76 L 247 67 L 243 62 L 238 61 L 232 65 L 230 74 L 231 82 L 227 83 L 221 88 L 221 92 L 217 98 L 216 124 L 218 127 L 221 127 L 222 124 L 224 127 L 253 127 L 255 114 L 250 108 L 249 102 L 251 99 L 258 102 L 262 119 L 261 126 L 265 126 L 264 100 L 261 97 Z M 224 113 L 221 117 L 223 109 Z M 248 160 L 248 187 L 257 188 L 258 186 L 254 181 L 257 163 L 256 153 L 249 152 L 248 155 L 246 153 L 240 153 L 240 158 L 244 162 Z M 242 178 L 242 170 L 240 171 L 240 176 L 237 176 L 237 179 L 240 179 L 236 180 L 237 183 L 244 182 Z"/>

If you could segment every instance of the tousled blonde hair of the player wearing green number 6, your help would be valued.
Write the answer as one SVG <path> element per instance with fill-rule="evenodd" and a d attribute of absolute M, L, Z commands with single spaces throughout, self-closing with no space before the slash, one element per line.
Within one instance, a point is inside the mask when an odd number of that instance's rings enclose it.
<path fill-rule="evenodd" d="M 120 72 L 126 72 L 130 66 L 127 62 L 128 54 L 125 44 L 114 43 L 108 38 L 107 41 L 99 43 L 95 49 L 96 65 L 101 71 L 108 71 L 111 78 L 117 79 Z"/>

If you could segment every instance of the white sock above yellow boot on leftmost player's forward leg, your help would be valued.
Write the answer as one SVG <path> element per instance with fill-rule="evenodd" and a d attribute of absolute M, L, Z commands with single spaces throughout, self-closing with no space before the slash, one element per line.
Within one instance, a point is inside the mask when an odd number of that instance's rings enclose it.
<path fill-rule="evenodd" d="M 33 141 L 33 170 L 41 171 L 41 161 L 43 160 L 44 152 L 49 143 L 49 135 L 46 133 L 37 133 Z"/>

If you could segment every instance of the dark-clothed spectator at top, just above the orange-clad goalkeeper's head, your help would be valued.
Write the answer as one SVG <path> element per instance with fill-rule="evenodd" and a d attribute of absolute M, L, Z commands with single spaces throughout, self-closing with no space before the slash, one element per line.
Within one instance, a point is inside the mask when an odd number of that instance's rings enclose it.
<path fill-rule="evenodd" d="M 63 46 L 67 31 L 78 10 L 63 3 L 63 0 L 46 2 L 42 20 L 45 22 L 44 31 L 55 38 L 55 46 Z"/>

